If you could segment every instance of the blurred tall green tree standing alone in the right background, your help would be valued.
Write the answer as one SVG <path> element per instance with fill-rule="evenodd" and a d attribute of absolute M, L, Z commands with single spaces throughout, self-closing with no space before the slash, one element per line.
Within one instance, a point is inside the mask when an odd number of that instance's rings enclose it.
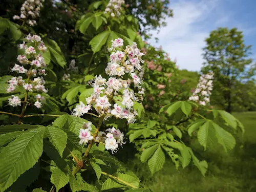
<path fill-rule="evenodd" d="M 202 71 L 215 74 L 212 104 L 223 106 L 231 112 L 233 105 L 243 102 L 239 99 L 238 83 L 249 80 L 254 75 L 251 46 L 244 44 L 243 33 L 236 28 L 218 28 L 206 38 L 207 46 L 203 49 L 204 67 Z"/>

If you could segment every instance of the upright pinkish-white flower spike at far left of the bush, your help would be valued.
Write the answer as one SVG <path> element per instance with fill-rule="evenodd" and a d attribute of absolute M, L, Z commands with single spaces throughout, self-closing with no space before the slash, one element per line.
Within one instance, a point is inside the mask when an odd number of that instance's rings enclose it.
<path fill-rule="evenodd" d="M 26 43 L 30 45 L 29 47 Z M 31 43 L 34 43 L 35 47 L 31 46 Z M 37 46 L 37 47 L 36 47 Z M 31 35 L 29 34 L 26 37 L 26 41 L 23 41 L 23 44 L 20 44 L 19 49 L 24 50 L 23 55 L 18 55 L 17 61 L 21 65 L 15 64 L 14 67 L 11 69 L 12 72 L 17 72 L 19 74 L 26 74 L 27 77 L 26 82 L 23 80 L 22 76 L 12 77 L 11 80 L 8 81 L 9 86 L 6 90 L 7 93 L 11 93 L 15 91 L 17 86 L 22 86 L 27 92 L 47 92 L 48 90 L 45 89 L 45 80 L 43 75 L 46 74 L 46 70 L 42 69 L 42 67 L 46 67 L 44 57 L 42 57 L 41 52 L 44 52 L 47 48 L 44 45 L 44 42 L 41 40 L 41 37 L 38 35 Z M 30 66 L 29 70 L 27 70 L 24 66 Z M 33 76 L 34 79 L 31 80 L 30 77 Z M 36 77 L 40 76 L 40 77 Z M 45 98 L 40 94 L 36 95 L 36 102 L 35 106 L 37 108 L 41 108 L 42 101 L 45 101 Z M 20 101 L 20 99 L 19 99 Z M 15 104 L 17 102 L 17 97 L 12 96 L 9 99 L 9 104 L 11 106 L 17 106 L 19 104 Z"/>

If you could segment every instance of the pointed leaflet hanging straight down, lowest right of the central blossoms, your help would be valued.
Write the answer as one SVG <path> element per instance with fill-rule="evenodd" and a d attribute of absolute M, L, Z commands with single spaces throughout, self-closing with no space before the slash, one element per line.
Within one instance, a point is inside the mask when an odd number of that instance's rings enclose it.
<path fill-rule="evenodd" d="M 163 153 L 161 145 L 158 146 L 154 155 L 148 160 L 148 168 L 152 174 L 156 173 L 158 170 L 163 168 L 163 164 L 165 162 L 165 155 Z"/>

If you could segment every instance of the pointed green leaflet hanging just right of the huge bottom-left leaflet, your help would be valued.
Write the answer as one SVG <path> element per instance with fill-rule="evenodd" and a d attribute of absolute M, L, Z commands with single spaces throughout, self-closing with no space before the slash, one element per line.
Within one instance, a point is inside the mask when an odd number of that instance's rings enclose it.
<path fill-rule="evenodd" d="M 53 146 L 59 152 L 60 157 L 62 157 L 62 153 L 66 148 L 67 144 L 67 134 L 58 127 L 54 126 L 48 126 L 46 131 L 49 140 L 52 142 Z"/>

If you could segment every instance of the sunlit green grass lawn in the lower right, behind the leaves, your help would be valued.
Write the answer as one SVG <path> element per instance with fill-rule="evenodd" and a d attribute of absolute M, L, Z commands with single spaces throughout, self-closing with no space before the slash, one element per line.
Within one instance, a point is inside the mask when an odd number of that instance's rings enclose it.
<path fill-rule="evenodd" d="M 256 112 L 234 113 L 245 126 L 242 142 L 230 153 L 203 153 L 208 161 L 205 177 L 194 167 L 176 170 L 171 162 L 145 181 L 155 192 L 252 192 L 256 191 Z"/>

